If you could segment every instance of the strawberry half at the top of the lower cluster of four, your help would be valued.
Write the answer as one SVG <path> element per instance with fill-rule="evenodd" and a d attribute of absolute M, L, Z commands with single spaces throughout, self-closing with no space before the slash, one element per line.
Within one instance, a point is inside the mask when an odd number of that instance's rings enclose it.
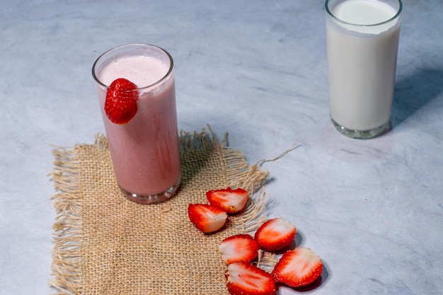
<path fill-rule="evenodd" d="M 255 232 L 255 241 L 267 251 L 277 251 L 289 246 L 295 238 L 297 228 L 289 221 L 275 218 L 266 221 Z"/>

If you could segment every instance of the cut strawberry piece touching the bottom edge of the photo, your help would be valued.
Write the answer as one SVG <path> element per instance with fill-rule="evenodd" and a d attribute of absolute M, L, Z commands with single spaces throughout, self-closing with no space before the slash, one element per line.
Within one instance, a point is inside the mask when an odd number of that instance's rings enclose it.
<path fill-rule="evenodd" d="M 277 290 L 270 274 L 246 262 L 228 265 L 226 279 L 231 295 L 274 295 Z"/>

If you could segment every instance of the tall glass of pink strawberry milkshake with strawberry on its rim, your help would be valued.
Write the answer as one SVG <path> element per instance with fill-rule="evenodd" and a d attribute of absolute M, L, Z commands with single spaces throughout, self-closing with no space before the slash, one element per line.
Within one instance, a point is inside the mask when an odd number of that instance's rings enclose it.
<path fill-rule="evenodd" d="M 171 55 L 154 45 L 122 45 L 100 55 L 92 74 L 120 189 L 139 204 L 169 199 L 180 185 Z M 134 87 L 117 86 L 125 79 Z M 129 121 L 119 119 L 125 108 Z"/>

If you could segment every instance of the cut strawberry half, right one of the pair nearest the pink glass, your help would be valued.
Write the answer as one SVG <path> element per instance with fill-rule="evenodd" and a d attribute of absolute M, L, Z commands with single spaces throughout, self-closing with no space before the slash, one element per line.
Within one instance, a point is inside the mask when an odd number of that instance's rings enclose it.
<path fill-rule="evenodd" d="M 248 202 L 248 192 L 238 187 L 235 190 L 231 187 L 221 190 L 209 190 L 206 197 L 212 205 L 224 209 L 228 213 L 240 212 Z"/>

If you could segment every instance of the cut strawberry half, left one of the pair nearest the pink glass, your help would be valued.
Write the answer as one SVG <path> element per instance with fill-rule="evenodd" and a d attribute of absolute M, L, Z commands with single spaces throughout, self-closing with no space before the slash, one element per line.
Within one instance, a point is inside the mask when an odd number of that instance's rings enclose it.
<path fill-rule="evenodd" d="M 192 224 L 204 233 L 222 229 L 228 218 L 225 211 L 208 204 L 189 204 L 188 216 Z"/>

